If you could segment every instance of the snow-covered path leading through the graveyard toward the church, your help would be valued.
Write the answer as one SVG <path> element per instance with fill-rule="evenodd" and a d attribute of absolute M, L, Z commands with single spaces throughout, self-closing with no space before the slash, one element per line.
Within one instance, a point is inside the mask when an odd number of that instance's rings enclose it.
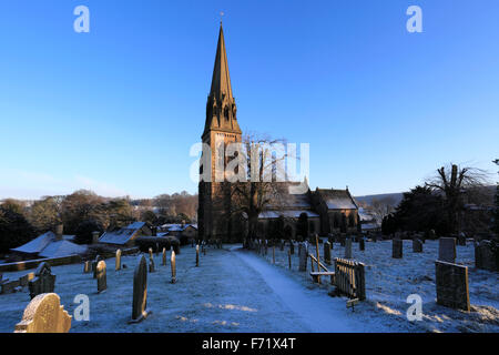
<path fill-rule="evenodd" d="M 255 270 L 274 293 L 293 310 L 314 333 L 363 332 L 359 322 L 348 318 L 345 301 L 333 298 L 324 291 L 304 288 L 279 268 L 269 265 L 255 254 L 233 247 L 231 251 Z"/>

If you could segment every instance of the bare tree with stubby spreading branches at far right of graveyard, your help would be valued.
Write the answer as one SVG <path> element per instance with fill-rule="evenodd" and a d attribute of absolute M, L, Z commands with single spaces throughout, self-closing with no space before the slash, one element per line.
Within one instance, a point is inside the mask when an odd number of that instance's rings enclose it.
<path fill-rule="evenodd" d="M 436 175 L 426 182 L 426 186 L 442 194 L 450 227 L 452 232 L 458 233 L 461 230 L 465 196 L 467 193 L 477 193 L 486 183 L 486 171 L 450 163 L 447 168 L 438 169 Z"/>

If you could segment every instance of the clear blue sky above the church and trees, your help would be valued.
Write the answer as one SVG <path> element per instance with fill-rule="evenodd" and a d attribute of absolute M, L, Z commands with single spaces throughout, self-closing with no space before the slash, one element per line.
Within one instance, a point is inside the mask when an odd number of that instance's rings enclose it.
<path fill-rule="evenodd" d="M 424 33 L 406 31 L 410 4 Z M 310 143 L 313 189 L 495 171 L 497 0 L 2 0 L 0 199 L 196 192 L 221 11 L 243 131 Z"/>

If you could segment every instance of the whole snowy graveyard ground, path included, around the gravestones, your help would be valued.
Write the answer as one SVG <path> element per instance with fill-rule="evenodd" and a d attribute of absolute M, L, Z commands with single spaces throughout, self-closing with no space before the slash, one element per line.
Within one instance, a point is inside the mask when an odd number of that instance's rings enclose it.
<path fill-rule="evenodd" d="M 314 282 L 308 257 L 307 271 L 299 271 L 297 244 L 293 255 L 287 243 L 282 248 L 268 246 L 266 254 L 264 250 L 242 248 L 241 244 L 207 246 L 198 255 L 198 266 L 196 247 L 183 246 L 175 256 L 175 283 L 172 252 L 165 252 L 166 265 L 162 253 L 152 253 L 153 270 L 150 262 L 144 266 L 149 314 L 138 323 L 130 322 L 134 272 L 143 255 L 150 261 L 147 253 L 121 256 L 121 270 L 115 270 L 114 258 L 100 261 L 96 273 L 104 263 L 106 270 L 105 290 L 101 292 L 99 277 L 83 273 L 81 263 L 53 266 L 51 272 L 55 275 L 54 293 L 69 315 L 79 305 L 77 295 L 89 296 L 90 320 L 77 321 L 73 315 L 71 333 L 499 332 L 499 276 L 475 268 L 472 242 L 456 246 L 456 263 L 468 266 L 470 312 L 436 303 L 439 241 L 426 241 L 422 253 L 413 251 L 411 241 L 401 243 L 401 258 L 393 257 L 390 240 L 366 240 L 364 251 L 360 243 L 352 243 L 353 260 L 364 264 L 366 298 L 349 308 L 348 297 L 334 295 L 335 286 L 328 277 L 322 276 L 320 284 Z M 325 263 L 324 243 L 318 245 L 320 262 Z M 343 258 L 346 246 L 333 243 L 332 260 Z M 317 254 L 312 243 L 308 252 Z M 28 272 L 4 273 L 3 278 L 14 280 Z M 27 288 L 0 295 L 0 332 L 12 332 L 20 322 L 31 301 Z M 406 301 L 411 294 L 422 298 L 421 321 L 410 322 L 406 316 L 410 306 Z"/>

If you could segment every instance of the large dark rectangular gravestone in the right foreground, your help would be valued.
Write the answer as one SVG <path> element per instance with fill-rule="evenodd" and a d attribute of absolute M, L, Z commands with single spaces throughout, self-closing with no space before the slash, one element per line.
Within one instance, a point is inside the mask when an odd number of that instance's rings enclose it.
<path fill-rule="evenodd" d="M 468 266 L 435 262 L 437 304 L 469 312 Z"/>

